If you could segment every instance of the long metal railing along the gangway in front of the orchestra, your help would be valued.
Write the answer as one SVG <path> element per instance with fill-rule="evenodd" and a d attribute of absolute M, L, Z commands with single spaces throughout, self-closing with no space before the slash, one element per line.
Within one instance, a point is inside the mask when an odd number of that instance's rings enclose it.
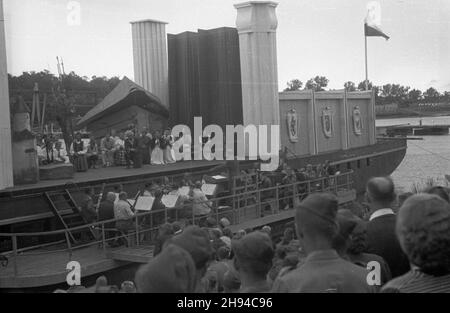
<path fill-rule="evenodd" d="M 288 209 L 293 209 L 296 203 L 313 192 L 338 193 L 339 191 L 350 190 L 353 187 L 352 174 L 353 172 L 350 171 L 335 176 L 321 177 L 287 185 L 280 184 L 275 187 L 263 189 L 258 186 L 256 190 L 237 192 L 232 195 L 216 197 L 196 204 L 213 203 L 212 207 L 214 209 L 208 214 L 209 217 L 214 217 L 217 223 L 221 218 L 226 217 L 230 220 L 232 225 L 239 225 L 244 221 L 279 214 L 281 211 L 284 211 L 286 207 Z M 0 233 L 0 238 L 9 238 L 12 244 L 12 250 L 2 254 L 13 257 L 12 263 L 14 266 L 14 274 L 15 276 L 18 276 L 18 258 L 21 256 L 67 252 L 69 258 L 71 258 L 72 253 L 75 250 L 95 245 L 101 246 L 103 251 L 106 252 L 107 244 L 109 242 L 117 241 L 120 238 L 126 239 L 128 245 L 139 246 L 143 243 L 151 244 L 154 242 L 162 224 L 177 220 L 185 220 L 187 224 L 201 224 L 205 219 L 205 216 L 196 216 L 194 213 L 193 203 L 190 201 L 186 201 L 175 208 L 136 213 L 133 220 L 134 229 L 128 233 L 120 232 L 116 228 L 108 227 L 110 224 L 117 222 L 116 219 L 48 232 Z M 95 240 L 74 246 L 70 240 L 69 232 L 74 233 L 88 228 L 95 230 L 97 234 Z M 112 236 L 109 236 L 111 234 Z M 46 236 L 64 237 L 64 239 L 58 241 L 58 243 L 61 244 L 65 242 L 66 247 L 59 250 L 33 251 L 48 247 L 52 244 L 24 248 L 18 246 L 18 238 Z M 53 243 L 53 245 L 54 244 L 56 243 Z M 27 253 L 24 254 L 25 252 Z M 0 270 L 2 269 L 0 268 Z"/>

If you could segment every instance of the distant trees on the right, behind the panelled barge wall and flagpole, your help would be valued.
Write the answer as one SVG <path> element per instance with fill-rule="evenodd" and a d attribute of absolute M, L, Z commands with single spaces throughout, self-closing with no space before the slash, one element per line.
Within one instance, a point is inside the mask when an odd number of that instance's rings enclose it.
<path fill-rule="evenodd" d="M 296 91 L 296 90 L 314 90 L 324 91 L 328 86 L 329 80 L 325 76 L 316 76 L 309 79 L 305 84 L 299 79 L 292 79 L 287 82 L 287 87 L 284 91 Z M 409 106 L 414 103 L 450 103 L 450 92 L 445 91 L 440 93 L 433 87 L 428 88 L 425 91 L 414 89 L 409 86 L 402 86 L 400 84 L 385 84 L 382 86 L 374 86 L 372 82 L 368 83 L 369 89 L 375 91 L 376 104 L 389 104 L 397 103 L 400 106 Z M 358 84 L 347 81 L 344 83 L 343 88 L 347 91 L 366 90 L 365 81 Z"/>

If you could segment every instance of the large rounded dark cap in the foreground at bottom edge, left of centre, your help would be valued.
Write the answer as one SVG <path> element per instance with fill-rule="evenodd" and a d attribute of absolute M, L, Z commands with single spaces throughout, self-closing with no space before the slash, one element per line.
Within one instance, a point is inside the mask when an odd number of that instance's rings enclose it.
<path fill-rule="evenodd" d="M 191 255 L 169 244 L 136 273 L 140 293 L 192 293 L 196 287 L 196 269 Z"/>

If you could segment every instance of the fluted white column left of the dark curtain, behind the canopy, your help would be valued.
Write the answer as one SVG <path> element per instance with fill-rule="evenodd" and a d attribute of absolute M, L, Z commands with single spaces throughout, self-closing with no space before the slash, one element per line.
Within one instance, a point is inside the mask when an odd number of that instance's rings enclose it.
<path fill-rule="evenodd" d="M 144 20 L 131 23 L 134 81 L 169 106 L 169 71 L 166 22 Z"/>

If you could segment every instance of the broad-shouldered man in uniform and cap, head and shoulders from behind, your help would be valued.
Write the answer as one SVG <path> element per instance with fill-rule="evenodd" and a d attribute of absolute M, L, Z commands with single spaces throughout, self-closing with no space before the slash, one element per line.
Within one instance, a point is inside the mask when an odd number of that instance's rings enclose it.
<path fill-rule="evenodd" d="M 338 199 L 332 194 L 312 194 L 296 209 L 297 235 L 307 257 L 295 270 L 278 277 L 274 293 L 367 293 L 369 271 L 339 257 L 333 249 L 338 232 Z"/>

